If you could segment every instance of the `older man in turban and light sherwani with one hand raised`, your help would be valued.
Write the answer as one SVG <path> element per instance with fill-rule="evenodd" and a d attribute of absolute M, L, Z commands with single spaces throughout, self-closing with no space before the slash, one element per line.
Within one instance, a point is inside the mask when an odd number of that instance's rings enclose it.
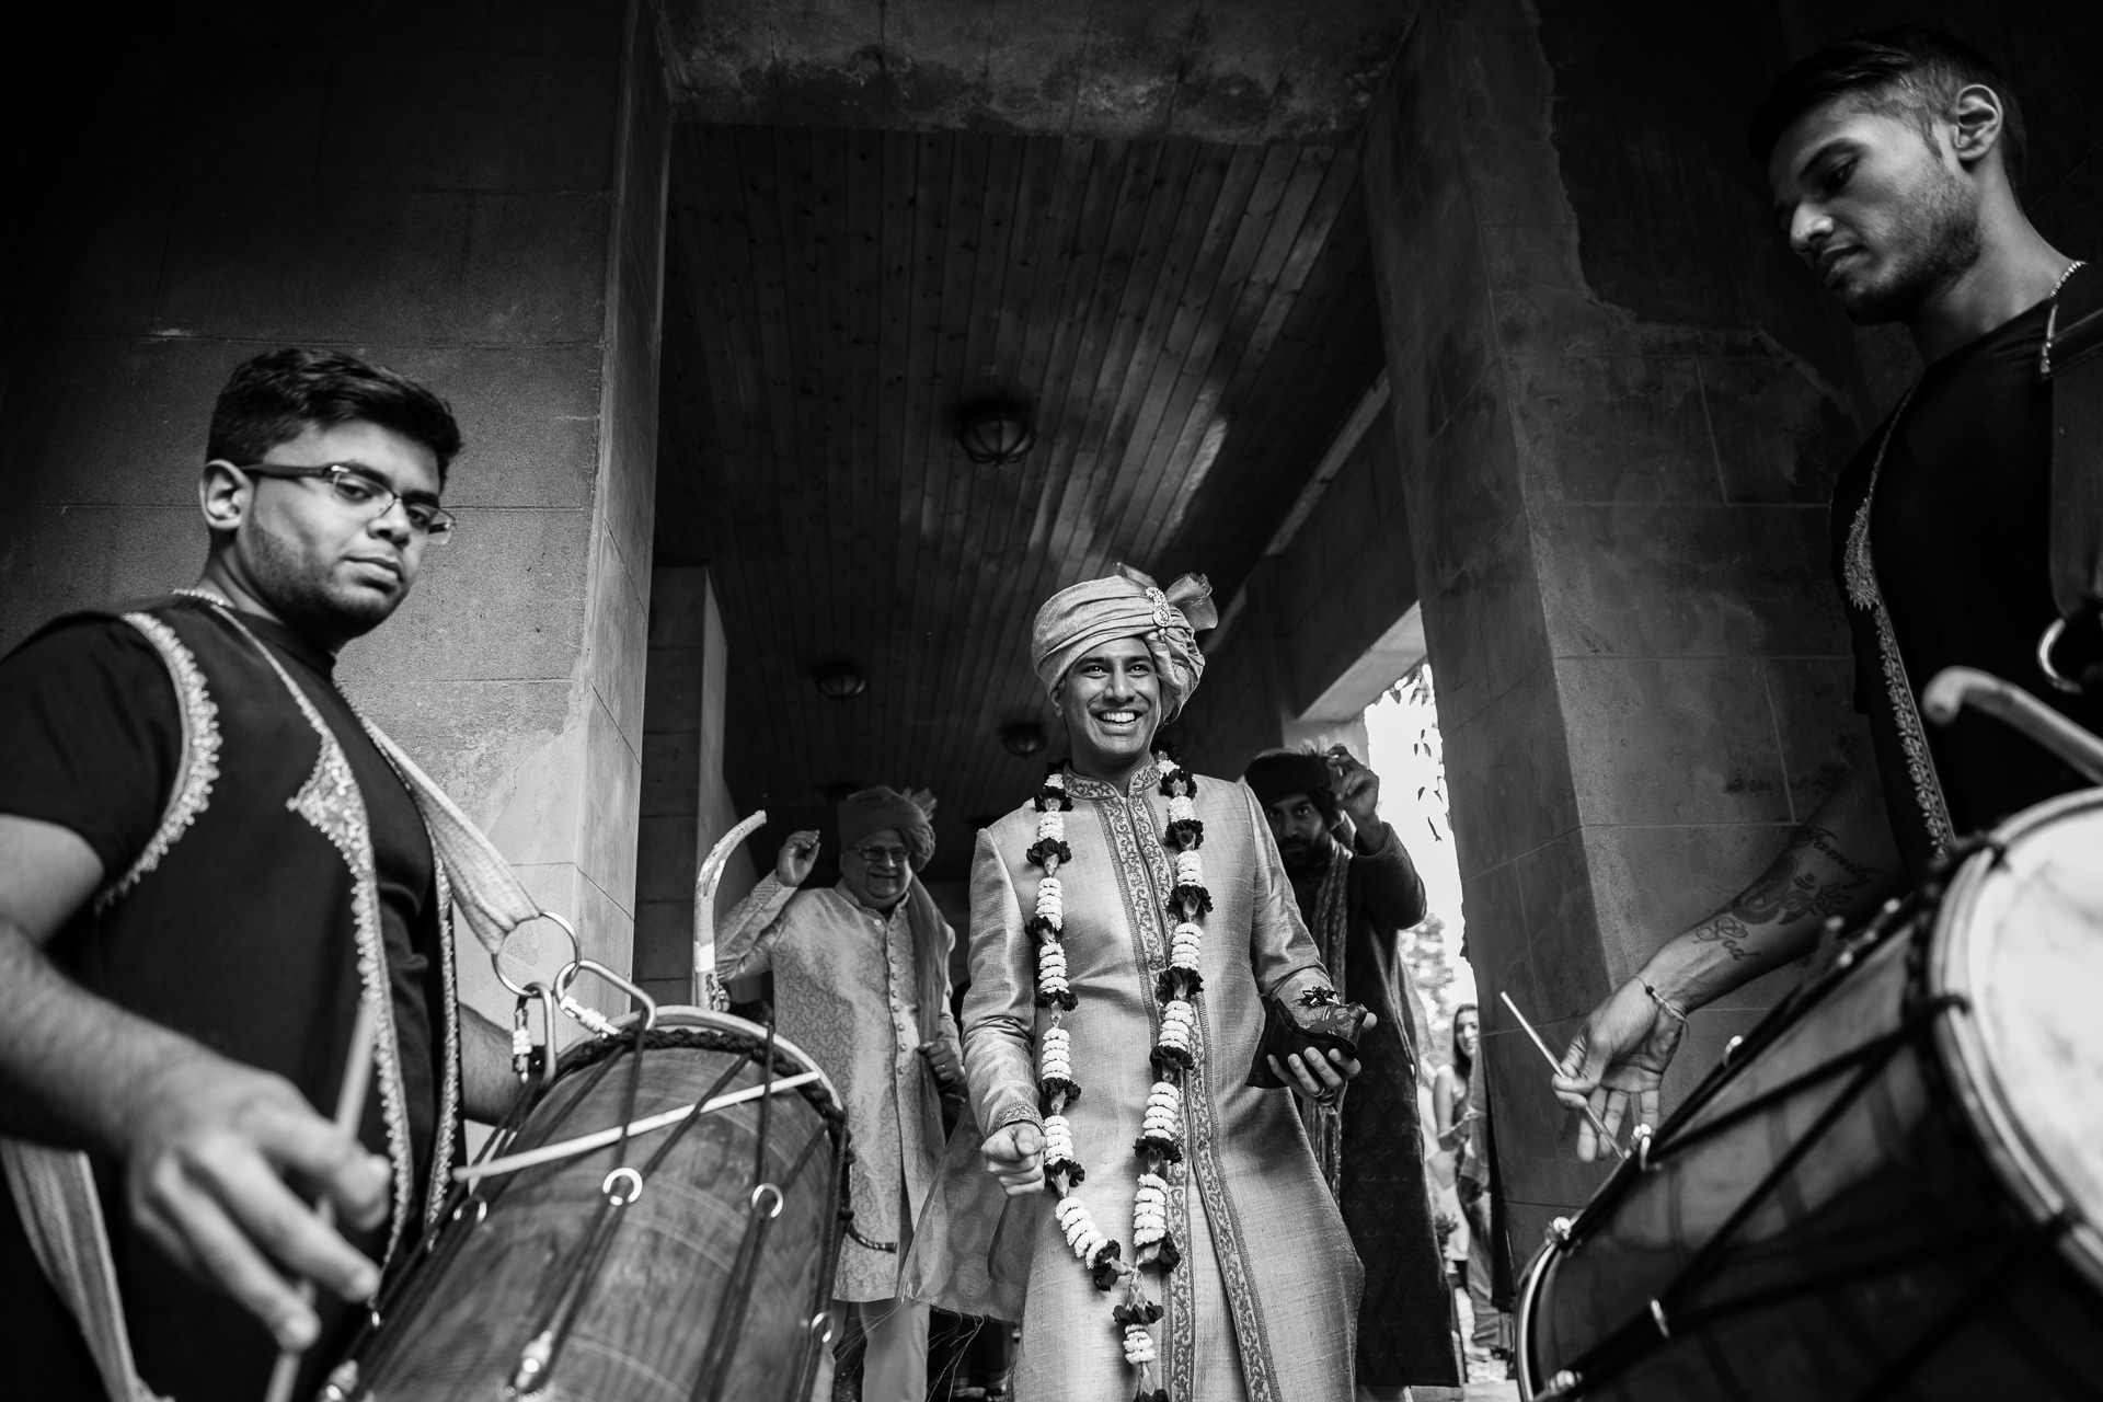
<path fill-rule="evenodd" d="M 942 1156 L 942 1087 L 961 1078 L 948 1011 L 955 931 L 913 879 L 934 855 L 934 799 L 864 788 L 839 805 L 839 883 L 801 891 L 816 832 L 791 832 L 719 937 L 726 980 L 774 969 L 780 1034 L 839 1087 L 854 1135 L 848 1183 L 856 1232 L 835 1295 L 866 1339 L 864 1402 L 927 1394 L 927 1307 L 900 1299 L 913 1204 Z M 869 1242 L 875 1242 L 871 1246 Z M 841 1377 L 852 1377 L 841 1358 Z"/>

